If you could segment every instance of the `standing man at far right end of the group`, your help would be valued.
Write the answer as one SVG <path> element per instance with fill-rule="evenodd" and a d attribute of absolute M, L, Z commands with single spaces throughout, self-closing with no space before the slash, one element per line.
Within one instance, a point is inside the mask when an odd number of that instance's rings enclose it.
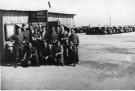
<path fill-rule="evenodd" d="M 79 56 L 78 56 L 78 47 L 79 47 L 79 37 L 77 34 L 75 34 L 74 29 L 71 29 L 71 35 L 69 36 L 69 41 L 72 41 L 73 45 L 77 47 L 77 64 L 79 63 Z"/>

